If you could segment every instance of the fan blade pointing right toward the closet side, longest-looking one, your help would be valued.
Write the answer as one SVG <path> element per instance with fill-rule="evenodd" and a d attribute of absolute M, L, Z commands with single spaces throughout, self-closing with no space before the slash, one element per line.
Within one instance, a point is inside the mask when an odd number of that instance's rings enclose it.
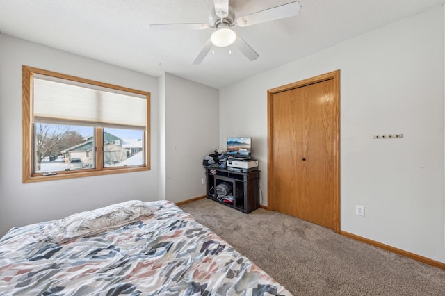
<path fill-rule="evenodd" d="M 236 20 L 238 26 L 251 26 L 252 24 L 260 24 L 264 22 L 274 21 L 275 19 L 284 19 L 285 17 L 293 17 L 300 12 L 300 2 L 293 1 L 282 6 L 275 6 L 257 13 L 245 15 Z"/>

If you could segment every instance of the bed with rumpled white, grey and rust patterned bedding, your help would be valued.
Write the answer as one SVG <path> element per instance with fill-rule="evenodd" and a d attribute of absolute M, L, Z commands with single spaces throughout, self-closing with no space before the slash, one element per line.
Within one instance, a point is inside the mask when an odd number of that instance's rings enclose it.
<path fill-rule="evenodd" d="M 1 295 L 291 295 L 168 201 L 129 201 L 10 229 Z"/>

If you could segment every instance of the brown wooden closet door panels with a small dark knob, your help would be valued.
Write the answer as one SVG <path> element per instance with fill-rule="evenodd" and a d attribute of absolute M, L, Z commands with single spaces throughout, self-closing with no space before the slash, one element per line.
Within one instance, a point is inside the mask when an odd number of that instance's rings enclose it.
<path fill-rule="evenodd" d="M 333 79 L 274 93 L 273 210 L 336 229 L 339 104 Z"/>

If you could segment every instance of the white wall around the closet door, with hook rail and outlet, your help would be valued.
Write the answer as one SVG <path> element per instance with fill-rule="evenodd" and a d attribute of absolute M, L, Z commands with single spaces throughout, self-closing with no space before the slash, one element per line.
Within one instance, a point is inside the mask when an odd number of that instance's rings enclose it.
<path fill-rule="evenodd" d="M 442 6 L 220 90 L 220 146 L 253 137 L 266 205 L 267 90 L 336 69 L 341 230 L 445 262 Z"/>

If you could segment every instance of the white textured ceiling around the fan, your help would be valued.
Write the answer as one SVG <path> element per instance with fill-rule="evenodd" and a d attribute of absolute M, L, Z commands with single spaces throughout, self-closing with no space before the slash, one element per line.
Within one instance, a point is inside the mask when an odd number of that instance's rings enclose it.
<path fill-rule="evenodd" d="M 293 0 L 230 0 L 236 17 Z M 257 51 L 209 53 L 191 65 L 211 30 L 155 33 L 149 24 L 207 23 L 212 0 L 0 0 L 0 31 L 152 76 L 164 72 L 223 88 L 445 0 L 300 0 L 296 17 L 235 27 Z M 69 74 L 69 73 L 67 73 Z"/>

